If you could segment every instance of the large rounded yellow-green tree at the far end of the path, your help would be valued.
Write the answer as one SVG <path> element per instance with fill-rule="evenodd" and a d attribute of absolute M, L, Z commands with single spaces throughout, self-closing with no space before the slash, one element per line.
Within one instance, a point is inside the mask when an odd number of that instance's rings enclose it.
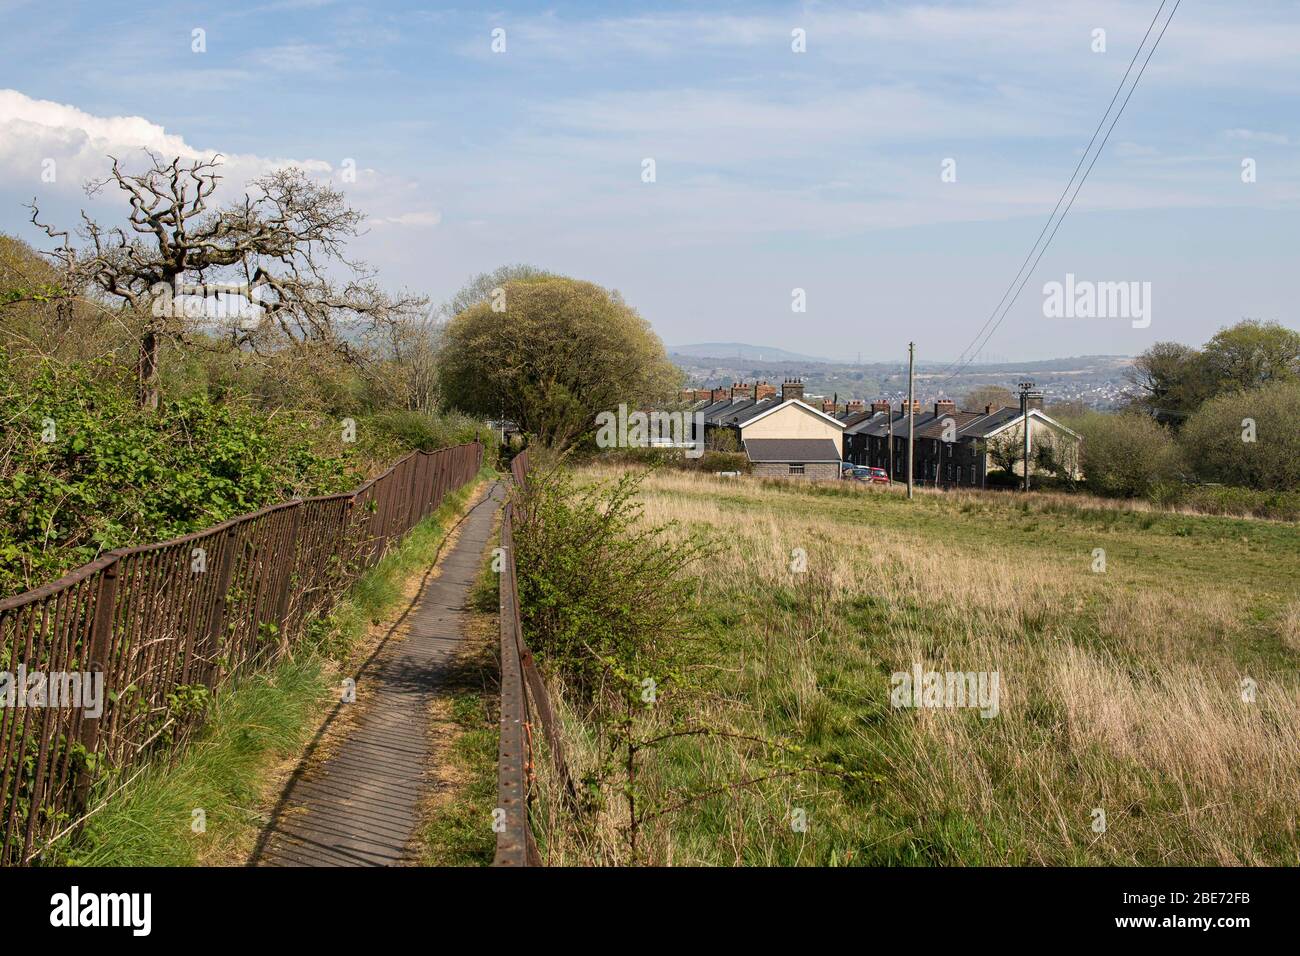
<path fill-rule="evenodd" d="M 447 323 L 438 373 L 450 406 L 563 449 L 601 411 L 673 397 L 680 372 L 619 293 L 558 276 L 499 289 Z"/>

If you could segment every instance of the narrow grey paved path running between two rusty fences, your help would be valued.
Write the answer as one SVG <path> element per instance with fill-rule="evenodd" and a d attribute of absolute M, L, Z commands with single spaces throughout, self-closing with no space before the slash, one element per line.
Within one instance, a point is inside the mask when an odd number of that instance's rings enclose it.
<path fill-rule="evenodd" d="M 312 766 L 317 743 L 294 773 L 263 832 L 255 866 L 390 866 L 406 862 L 429 765 L 429 705 L 468 619 L 465 601 L 481 568 L 503 498 L 493 485 L 465 516 L 415 604 L 356 678 L 355 727 Z M 322 730 L 324 732 L 324 730 Z M 317 735 L 317 741 L 320 735 Z"/>

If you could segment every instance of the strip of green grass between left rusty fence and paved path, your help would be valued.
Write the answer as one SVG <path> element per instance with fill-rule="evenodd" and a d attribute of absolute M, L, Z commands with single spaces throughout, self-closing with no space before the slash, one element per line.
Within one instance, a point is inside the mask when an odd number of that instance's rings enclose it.
<path fill-rule="evenodd" d="M 477 496 L 485 468 L 452 492 L 394 551 L 360 578 L 334 610 L 313 622 L 292 658 L 216 697 L 199 735 L 160 754 L 134 779 L 109 780 L 107 806 L 48 861 L 79 866 L 224 866 L 243 864 L 266 808 L 338 693 L 341 662 L 370 627 L 410 597 L 411 579 L 433 561 Z M 170 760 L 169 760 L 170 756 Z"/>

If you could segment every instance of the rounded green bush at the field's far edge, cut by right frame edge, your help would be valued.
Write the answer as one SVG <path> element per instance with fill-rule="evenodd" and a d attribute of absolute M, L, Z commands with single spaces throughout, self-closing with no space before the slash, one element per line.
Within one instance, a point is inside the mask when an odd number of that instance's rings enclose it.
<path fill-rule="evenodd" d="M 1206 481 L 1262 490 L 1300 488 L 1300 381 L 1212 398 L 1183 428 L 1180 441 Z"/>

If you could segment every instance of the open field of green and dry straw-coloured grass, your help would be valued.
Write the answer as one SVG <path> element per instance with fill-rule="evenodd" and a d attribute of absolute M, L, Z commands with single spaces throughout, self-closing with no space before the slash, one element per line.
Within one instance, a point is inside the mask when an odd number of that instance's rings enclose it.
<path fill-rule="evenodd" d="M 772 771 L 764 748 L 677 739 L 638 775 L 680 804 L 651 818 L 649 861 L 1300 862 L 1295 524 L 682 472 L 644 501 L 720 541 L 690 571 L 681 689 L 649 719 L 676 709 L 846 771 L 736 786 Z M 997 672 L 998 714 L 893 708 L 890 675 L 915 665 Z M 581 766 L 594 745 L 567 723 Z M 547 834 L 551 861 L 616 856 L 621 812 L 594 843 Z"/>

